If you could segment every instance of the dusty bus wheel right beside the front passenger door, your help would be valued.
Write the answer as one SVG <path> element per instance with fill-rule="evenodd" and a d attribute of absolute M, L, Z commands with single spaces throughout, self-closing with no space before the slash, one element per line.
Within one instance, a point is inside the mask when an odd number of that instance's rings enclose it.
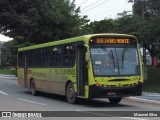
<path fill-rule="evenodd" d="M 74 86 L 70 82 L 67 84 L 67 87 L 66 87 L 66 98 L 67 98 L 68 103 L 71 103 L 71 104 L 76 103 L 76 97 L 77 96 L 74 90 Z"/>

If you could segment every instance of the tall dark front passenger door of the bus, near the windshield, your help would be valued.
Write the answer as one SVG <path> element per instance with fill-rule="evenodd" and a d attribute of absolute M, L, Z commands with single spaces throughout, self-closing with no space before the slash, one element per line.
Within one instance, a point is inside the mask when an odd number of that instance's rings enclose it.
<path fill-rule="evenodd" d="M 77 95 L 85 96 L 85 84 L 87 81 L 87 64 L 85 60 L 85 47 L 83 42 L 77 43 L 76 66 L 77 66 Z"/>

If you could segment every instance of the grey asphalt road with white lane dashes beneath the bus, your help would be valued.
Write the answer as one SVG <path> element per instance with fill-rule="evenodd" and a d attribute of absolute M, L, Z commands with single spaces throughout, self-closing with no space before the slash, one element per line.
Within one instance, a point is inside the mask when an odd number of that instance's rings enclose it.
<path fill-rule="evenodd" d="M 54 118 L 58 120 L 93 120 L 97 118 L 106 120 L 106 117 L 113 120 L 158 120 L 159 117 L 155 116 L 156 114 L 160 115 L 160 104 L 124 98 L 117 105 L 110 104 L 107 99 L 80 99 L 78 104 L 73 105 L 67 103 L 64 96 L 48 93 L 32 96 L 29 89 L 19 86 L 12 77 L 0 77 L 0 111 L 18 111 L 20 115 L 28 115 L 28 113 L 22 114 L 24 111 L 44 111 L 41 113 L 42 117 L 55 116 Z M 16 114 L 14 117 L 16 117 Z"/>

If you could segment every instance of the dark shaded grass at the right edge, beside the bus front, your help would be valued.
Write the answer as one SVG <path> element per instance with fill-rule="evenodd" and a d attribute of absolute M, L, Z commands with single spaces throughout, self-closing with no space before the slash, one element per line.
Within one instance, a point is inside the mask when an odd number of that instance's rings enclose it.
<path fill-rule="evenodd" d="M 148 67 L 148 79 L 144 81 L 143 91 L 160 93 L 160 68 Z"/>

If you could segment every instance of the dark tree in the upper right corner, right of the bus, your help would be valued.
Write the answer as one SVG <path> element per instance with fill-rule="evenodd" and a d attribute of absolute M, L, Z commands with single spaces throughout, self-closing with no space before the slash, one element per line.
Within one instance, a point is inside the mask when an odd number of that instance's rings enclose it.
<path fill-rule="evenodd" d="M 141 39 L 144 41 L 144 47 L 146 47 L 150 51 L 152 57 L 154 57 L 160 52 L 160 1 L 134 0 L 134 8 L 134 14 L 147 20 L 145 25 L 140 28 Z"/>

